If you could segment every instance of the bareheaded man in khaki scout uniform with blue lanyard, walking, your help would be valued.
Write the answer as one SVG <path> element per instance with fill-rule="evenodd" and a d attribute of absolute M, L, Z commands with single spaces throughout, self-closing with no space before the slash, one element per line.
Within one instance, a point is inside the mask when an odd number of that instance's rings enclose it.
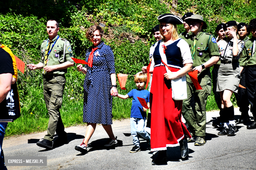
<path fill-rule="evenodd" d="M 67 68 L 74 66 L 70 43 L 58 36 L 59 23 L 56 20 L 47 22 L 49 38 L 44 40 L 40 48 L 40 62 L 27 65 L 29 69 L 42 69 L 44 77 L 44 99 L 49 113 L 47 135 L 44 140 L 37 142 L 40 147 L 53 149 L 53 135 L 58 134 L 56 145 L 68 143 L 59 109 L 62 105 L 63 90 L 66 83 Z M 55 145 L 55 144 L 54 144 Z"/>

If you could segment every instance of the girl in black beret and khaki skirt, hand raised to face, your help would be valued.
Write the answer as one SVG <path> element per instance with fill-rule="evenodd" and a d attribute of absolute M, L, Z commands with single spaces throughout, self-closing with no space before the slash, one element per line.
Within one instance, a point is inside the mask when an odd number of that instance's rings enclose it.
<path fill-rule="evenodd" d="M 218 72 L 217 91 L 220 92 L 224 115 L 224 127 L 218 135 L 232 136 L 236 132 L 234 121 L 234 107 L 230 101 L 233 92 L 238 92 L 240 82 L 239 56 L 245 42 L 239 40 L 237 24 L 235 21 L 228 21 L 224 26 L 227 38 L 219 41 L 221 54 L 221 65 Z"/>

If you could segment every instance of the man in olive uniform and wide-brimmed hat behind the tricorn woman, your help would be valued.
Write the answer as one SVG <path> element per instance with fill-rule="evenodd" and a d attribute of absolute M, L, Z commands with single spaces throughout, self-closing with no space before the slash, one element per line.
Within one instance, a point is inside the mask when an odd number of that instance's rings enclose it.
<path fill-rule="evenodd" d="M 191 35 L 184 38 L 188 43 L 192 59 L 193 69 L 198 70 L 198 82 L 202 90 L 196 90 L 188 74 L 187 78 L 187 99 L 183 100 L 182 115 L 188 123 L 191 133 L 194 138 L 196 136 L 195 146 L 204 145 L 206 142 L 206 101 L 211 94 L 211 73 L 209 66 L 219 61 L 219 48 L 216 39 L 212 34 L 205 33 L 202 29 L 206 29 L 207 25 L 203 21 L 203 17 L 194 14 L 185 19 L 185 22 L 190 26 Z M 195 105 L 192 105 L 194 98 Z M 193 112 L 193 110 L 195 110 Z"/>

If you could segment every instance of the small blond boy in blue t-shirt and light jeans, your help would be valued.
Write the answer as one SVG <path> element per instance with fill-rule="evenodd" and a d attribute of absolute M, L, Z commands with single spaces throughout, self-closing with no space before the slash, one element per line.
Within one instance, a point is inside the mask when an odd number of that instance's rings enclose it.
<path fill-rule="evenodd" d="M 120 99 L 133 98 L 132 108 L 131 108 L 131 135 L 133 136 L 133 144 L 135 145 L 130 152 L 135 153 L 140 151 L 139 146 L 139 135 L 147 140 L 148 146 L 150 147 L 150 135 L 145 131 L 145 121 L 147 118 L 147 109 L 142 107 L 139 103 L 137 97 L 143 98 L 146 100 L 149 107 L 149 91 L 144 89 L 144 86 L 147 83 L 147 75 L 143 73 L 137 73 L 134 82 L 137 86 L 137 89 L 132 89 L 128 94 L 121 95 L 118 94 L 117 97 Z"/>

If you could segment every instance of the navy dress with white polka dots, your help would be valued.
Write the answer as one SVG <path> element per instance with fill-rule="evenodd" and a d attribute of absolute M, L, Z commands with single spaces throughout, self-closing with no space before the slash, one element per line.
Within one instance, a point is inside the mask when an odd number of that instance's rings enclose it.
<path fill-rule="evenodd" d="M 94 47 L 94 46 L 93 46 Z M 115 73 L 115 60 L 112 49 L 100 42 L 94 51 L 93 67 L 85 65 L 83 122 L 112 124 L 112 88 L 110 74 Z M 86 51 L 88 62 L 92 47 Z"/>

